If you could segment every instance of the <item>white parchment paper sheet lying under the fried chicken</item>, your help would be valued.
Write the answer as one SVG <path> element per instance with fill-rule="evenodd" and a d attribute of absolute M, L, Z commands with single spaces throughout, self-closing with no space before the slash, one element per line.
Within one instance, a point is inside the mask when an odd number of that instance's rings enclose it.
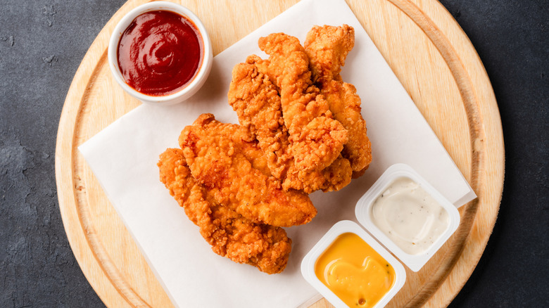
<path fill-rule="evenodd" d="M 231 72 L 252 53 L 266 57 L 258 49 L 259 37 L 285 32 L 303 43 L 313 25 L 343 23 L 355 28 L 356 39 L 341 75 L 362 98 L 372 165 L 341 191 L 311 195 L 317 217 L 286 229 L 293 245 L 282 274 L 267 275 L 215 255 L 160 183 L 158 155 L 177 147 L 180 131 L 201 113 L 238 122 L 227 103 Z M 164 108 L 141 105 L 79 149 L 177 307 L 296 307 L 315 297 L 301 276 L 301 259 L 334 223 L 356 221 L 356 202 L 393 163 L 415 168 L 456 206 L 476 197 L 343 0 L 299 2 L 217 55 L 208 81 L 189 101 Z"/>

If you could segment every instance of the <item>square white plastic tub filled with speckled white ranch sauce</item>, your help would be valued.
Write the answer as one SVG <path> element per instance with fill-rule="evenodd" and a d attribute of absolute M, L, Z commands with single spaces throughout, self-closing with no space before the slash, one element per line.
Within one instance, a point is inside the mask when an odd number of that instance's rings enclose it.
<path fill-rule="evenodd" d="M 419 271 L 460 224 L 455 206 L 405 164 L 389 167 L 358 200 L 355 214 L 412 271 Z"/>

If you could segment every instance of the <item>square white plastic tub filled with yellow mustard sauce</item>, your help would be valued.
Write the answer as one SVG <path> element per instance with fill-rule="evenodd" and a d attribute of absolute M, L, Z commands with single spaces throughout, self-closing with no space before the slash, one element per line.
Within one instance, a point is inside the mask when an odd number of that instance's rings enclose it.
<path fill-rule="evenodd" d="M 402 264 L 348 220 L 334 224 L 308 252 L 301 273 L 336 307 L 384 307 L 406 280 Z"/>

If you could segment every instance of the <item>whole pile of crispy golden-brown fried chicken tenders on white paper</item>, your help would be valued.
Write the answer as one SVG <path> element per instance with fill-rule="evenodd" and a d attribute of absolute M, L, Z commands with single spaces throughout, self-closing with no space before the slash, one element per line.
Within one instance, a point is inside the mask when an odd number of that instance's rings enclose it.
<path fill-rule="evenodd" d="M 227 94 L 241 125 L 201 115 L 158 167 L 215 253 L 274 274 L 291 251 L 281 226 L 317 214 L 308 193 L 343 188 L 372 158 L 360 98 L 340 75 L 353 28 L 313 27 L 305 48 L 284 33 L 258 44 L 269 58 L 236 65 Z"/>

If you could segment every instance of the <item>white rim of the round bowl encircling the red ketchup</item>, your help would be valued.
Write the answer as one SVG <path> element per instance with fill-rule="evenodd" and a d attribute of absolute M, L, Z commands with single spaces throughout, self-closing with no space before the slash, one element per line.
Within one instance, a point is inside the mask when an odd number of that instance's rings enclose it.
<path fill-rule="evenodd" d="M 188 18 L 196 26 L 196 30 L 200 33 L 203 42 L 201 65 L 198 68 L 198 72 L 196 72 L 193 80 L 183 89 L 175 92 L 174 94 L 165 96 L 151 96 L 143 94 L 132 88 L 132 86 L 125 82 L 124 77 L 122 77 L 122 73 L 120 72 L 120 68 L 118 67 L 118 44 L 120 42 L 120 37 L 122 37 L 122 33 L 125 32 L 127 27 L 135 18 L 137 18 L 137 16 L 152 11 L 170 11 Z M 114 79 L 128 94 L 139 99 L 139 101 L 143 103 L 151 105 L 172 105 L 175 103 L 181 103 L 191 97 L 196 93 L 196 91 L 198 91 L 198 89 L 201 88 L 204 82 L 206 82 L 213 63 L 213 49 L 210 42 L 210 37 L 206 31 L 206 27 L 204 27 L 201 20 L 192 11 L 190 11 L 189 8 L 168 1 L 153 1 L 133 8 L 132 11 L 128 12 L 122 17 L 122 19 L 120 19 L 111 34 L 111 39 L 108 44 L 107 58 L 108 66 L 111 69 Z"/>

